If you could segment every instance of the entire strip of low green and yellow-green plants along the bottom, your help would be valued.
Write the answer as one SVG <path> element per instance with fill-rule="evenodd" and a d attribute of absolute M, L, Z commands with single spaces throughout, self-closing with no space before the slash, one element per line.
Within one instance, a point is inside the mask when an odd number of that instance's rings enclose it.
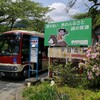
<path fill-rule="evenodd" d="M 50 86 L 49 83 L 27 87 L 23 90 L 25 100 L 100 100 L 100 91 Z"/>

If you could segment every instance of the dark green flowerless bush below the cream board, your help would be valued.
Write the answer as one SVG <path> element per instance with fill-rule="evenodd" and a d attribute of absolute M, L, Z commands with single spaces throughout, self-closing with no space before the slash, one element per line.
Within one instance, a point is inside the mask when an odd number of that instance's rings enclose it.
<path fill-rule="evenodd" d="M 55 81 L 58 85 L 68 85 L 70 87 L 77 87 L 80 79 L 77 73 L 74 73 L 75 69 L 71 66 L 71 62 L 67 62 L 65 66 L 58 65 L 55 68 Z"/>

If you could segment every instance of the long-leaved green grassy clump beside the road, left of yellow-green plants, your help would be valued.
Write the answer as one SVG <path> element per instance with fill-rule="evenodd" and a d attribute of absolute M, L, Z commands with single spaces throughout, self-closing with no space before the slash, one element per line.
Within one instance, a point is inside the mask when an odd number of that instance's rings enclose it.
<path fill-rule="evenodd" d="M 27 100 L 68 100 L 67 95 L 59 93 L 55 86 L 50 86 L 48 83 L 25 88 L 23 97 Z"/>

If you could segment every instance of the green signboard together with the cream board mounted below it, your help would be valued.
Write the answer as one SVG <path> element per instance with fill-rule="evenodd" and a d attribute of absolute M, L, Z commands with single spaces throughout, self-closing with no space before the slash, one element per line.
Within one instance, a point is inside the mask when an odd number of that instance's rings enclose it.
<path fill-rule="evenodd" d="M 91 18 L 49 23 L 45 25 L 45 46 L 48 57 L 68 59 L 85 59 L 84 48 L 92 45 Z M 50 48 L 52 47 L 52 48 Z"/>

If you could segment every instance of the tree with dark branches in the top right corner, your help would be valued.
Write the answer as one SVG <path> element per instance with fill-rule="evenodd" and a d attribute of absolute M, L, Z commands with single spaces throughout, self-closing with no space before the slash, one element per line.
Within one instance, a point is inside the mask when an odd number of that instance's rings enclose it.
<path fill-rule="evenodd" d="M 69 6 L 74 5 L 77 0 L 72 0 L 72 1 L 73 1 L 72 4 L 69 3 Z M 100 9 L 99 9 L 100 2 L 99 2 L 99 0 L 88 0 L 88 1 L 93 2 L 93 5 L 88 8 L 88 12 L 73 15 L 72 18 L 81 19 L 81 18 L 91 17 L 92 23 L 93 23 L 92 28 L 95 29 L 96 27 L 100 26 Z M 71 6 L 71 7 L 73 7 L 73 6 Z"/>

